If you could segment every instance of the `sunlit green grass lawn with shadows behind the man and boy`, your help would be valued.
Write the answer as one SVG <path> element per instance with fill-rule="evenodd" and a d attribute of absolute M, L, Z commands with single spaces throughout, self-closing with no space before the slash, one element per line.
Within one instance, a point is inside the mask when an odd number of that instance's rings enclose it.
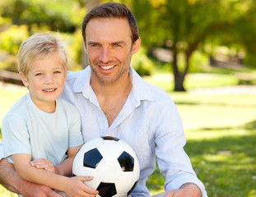
<path fill-rule="evenodd" d="M 146 78 L 170 93 L 184 122 L 189 154 L 195 172 L 209 197 L 256 196 L 256 94 L 203 94 L 170 91 L 170 75 Z M 189 76 L 187 89 L 235 85 L 232 75 Z M 0 118 L 26 92 L 0 89 Z M 147 181 L 151 194 L 163 190 L 164 178 L 156 172 Z M 0 196 L 9 193 L 0 186 Z M 10 195 L 11 196 L 11 195 Z"/>

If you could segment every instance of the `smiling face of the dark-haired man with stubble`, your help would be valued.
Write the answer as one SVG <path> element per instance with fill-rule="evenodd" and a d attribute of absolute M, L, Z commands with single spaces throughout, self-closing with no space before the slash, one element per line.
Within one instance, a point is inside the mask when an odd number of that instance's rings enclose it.
<path fill-rule="evenodd" d="M 86 53 L 91 66 L 91 83 L 113 84 L 128 76 L 131 57 L 140 46 L 132 44 L 131 30 L 124 19 L 91 19 L 86 26 Z"/>

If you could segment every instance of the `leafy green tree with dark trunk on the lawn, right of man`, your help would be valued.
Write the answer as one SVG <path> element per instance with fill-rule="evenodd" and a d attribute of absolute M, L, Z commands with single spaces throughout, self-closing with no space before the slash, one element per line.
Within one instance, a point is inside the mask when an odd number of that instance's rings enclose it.
<path fill-rule="evenodd" d="M 175 91 L 184 91 L 193 52 L 209 35 L 216 37 L 226 32 L 246 14 L 244 7 L 252 3 L 252 0 L 134 0 L 133 13 L 137 16 L 142 44 L 172 50 Z M 165 45 L 167 40 L 170 46 Z M 181 54 L 184 69 L 179 61 Z"/>

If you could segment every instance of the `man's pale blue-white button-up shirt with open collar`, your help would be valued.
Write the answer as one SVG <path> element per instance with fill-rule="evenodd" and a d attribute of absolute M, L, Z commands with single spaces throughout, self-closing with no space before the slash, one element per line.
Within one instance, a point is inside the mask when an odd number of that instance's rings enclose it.
<path fill-rule="evenodd" d="M 74 104 L 81 114 L 81 130 L 85 142 L 95 137 L 110 135 L 130 144 L 140 163 L 141 173 L 133 196 L 149 196 L 146 187 L 157 163 L 165 176 L 165 190 L 179 189 L 193 182 L 207 192 L 198 180 L 188 155 L 182 121 L 175 103 L 164 90 L 150 85 L 130 68 L 131 90 L 126 103 L 111 126 L 101 110 L 90 85 L 91 68 L 69 72 L 61 98 Z"/>

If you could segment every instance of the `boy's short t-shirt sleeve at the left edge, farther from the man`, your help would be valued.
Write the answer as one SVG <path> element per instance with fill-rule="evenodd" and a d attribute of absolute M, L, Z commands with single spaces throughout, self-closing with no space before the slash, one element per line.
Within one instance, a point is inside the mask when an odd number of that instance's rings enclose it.
<path fill-rule="evenodd" d="M 4 156 L 9 161 L 12 154 L 31 154 L 26 119 L 13 113 L 4 117 L 2 121 L 2 143 Z"/>

